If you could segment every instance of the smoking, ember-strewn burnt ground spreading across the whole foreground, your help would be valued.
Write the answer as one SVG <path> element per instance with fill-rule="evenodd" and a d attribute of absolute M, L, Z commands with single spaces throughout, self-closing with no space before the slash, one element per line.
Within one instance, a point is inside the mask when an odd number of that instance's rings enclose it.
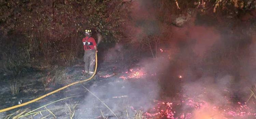
<path fill-rule="evenodd" d="M 34 109 L 64 97 L 79 96 L 48 105 L 47 108 L 58 118 L 67 118 L 69 112 L 65 104 L 78 104 L 74 114 L 74 118 L 78 119 L 102 118 L 103 116 L 116 118 L 115 115 L 120 119 L 133 118 L 139 110 L 142 110 L 143 117 L 148 119 L 255 118 L 254 102 L 245 103 L 250 93 L 244 97 L 239 95 L 246 91 L 242 86 L 237 86 L 237 89 L 233 88 L 233 84 L 236 84 L 234 76 L 218 74 L 217 77 L 213 77 L 207 75 L 208 73 L 199 75 L 193 73 L 188 67 L 185 70 L 177 70 L 176 68 L 182 65 L 175 63 L 174 67 L 172 64 L 176 61 L 169 58 L 167 52 L 165 49 L 159 50 L 160 54 L 157 59 L 146 58 L 129 67 L 107 61 L 101 62 L 98 73 L 92 81 L 69 87 L 67 90 L 26 106 L 24 109 Z M 176 70 L 170 71 L 172 69 L 170 66 Z M 83 64 L 66 70 L 65 84 L 86 78 L 82 73 Z M 25 84 L 24 86 L 29 87 Z M 52 85 L 49 88 L 36 92 L 31 90 L 30 93 L 36 97 L 38 94 L 53 90 L 56 86 Z M 24 94 L 26 94 L 25 91 L 20 92 L 18 97 L 11 99 L 11 102 L 15 104 L 19 99 L 26 101 L 33 98 L 29 96 L 27 99 Z M 11 97 L 5 97 L 3 100 L 8 98 Z M 48 113 L 42 112 L 42 115 L 46 116 Z M 33 118 L 40 117 L 43 116 L 38 114 Z"/>

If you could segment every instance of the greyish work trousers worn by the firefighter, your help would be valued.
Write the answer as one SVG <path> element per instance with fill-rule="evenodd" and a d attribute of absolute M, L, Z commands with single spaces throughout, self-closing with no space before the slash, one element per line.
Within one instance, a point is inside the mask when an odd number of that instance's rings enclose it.
<path fill-rule="evenodd" d="M 85 50 L 84 51 L 84 69 L 85 72 L 94 72 L 95 68 L 95 50 Z"/>

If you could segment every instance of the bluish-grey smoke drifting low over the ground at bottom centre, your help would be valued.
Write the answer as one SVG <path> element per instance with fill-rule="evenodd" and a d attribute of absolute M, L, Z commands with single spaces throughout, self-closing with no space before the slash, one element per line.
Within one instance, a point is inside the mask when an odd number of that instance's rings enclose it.
<path fill-rule="evenodd" d="M 110 57 L 112 57 L 111 59 L 113 61 L 113 58 L 117 56 L 116 52 L 123 50 L 122 45 L 115 44 L 115 47 L 106 52 L 106 55 L 111 55 Z M 159 55 L 159 57 L 161 56 L 166 55 Z M 107 63 L 109 65 L 109 62 Z M 157 58 L 154 60 L 152 58 L 144 58 L 134 64 L 134 66 L 130 66 L 129 69 L 143 69 L 147 73 L 145 77 L 122 80 L 112 76 L 107 80 L 102 79 L 102 81 L 97 81 L 87 88 L 101 99 L 120 119 L 127 118 L 127 114 L 132 117 L 139 109 L 147 112 L 155 106 L 154 100 L 159 97 L 159 85 L 157 75 L 152 76 L 151 74 L 161 73 L 162 68 L 168 66 L 168 64 L 169 60 L 166 60 L 166 58 Z M 119 68 L 118 63 L 114 65 L 115 68 Z M 124 68 L 128 67 L 122 66 L 121 70 L 124 70 Z M 101 116 L 101 112 L 105 117 L 116 118 L 108 107 L 89 92 L 82 102 L 84 103 L 78 107 L 79 112 L 77 112 L 77 118 L 99 117 Z"/>

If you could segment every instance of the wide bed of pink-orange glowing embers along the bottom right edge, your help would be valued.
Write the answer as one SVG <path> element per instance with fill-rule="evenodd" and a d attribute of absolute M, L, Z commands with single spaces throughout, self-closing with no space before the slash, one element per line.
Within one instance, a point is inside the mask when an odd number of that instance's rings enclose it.
<path fill-rule="evenodd" d="M 191 98 L 175 104 L 158 101 L 156 106 L 149 111 L 151 113 L 146 112 L 144 116 L 146 119 L 248 119 L 256 117 L 256 113 L 252 113 L 253 110 L 245 104 L 238 102 L 237 105 L 230 106 L 214 106 L 203 100 L 195 101 Z M 181 107 L 186 107 L 186 111 L 175 112 L 175 109 Z"/>

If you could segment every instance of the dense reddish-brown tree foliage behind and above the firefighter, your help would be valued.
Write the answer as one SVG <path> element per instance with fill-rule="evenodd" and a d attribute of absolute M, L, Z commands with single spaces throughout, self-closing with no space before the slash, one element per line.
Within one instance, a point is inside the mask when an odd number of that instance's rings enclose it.
<path fill-rule="evenodd" d="M 84 29 L 94 29 L 105 42 L 118 41 L 129 14 L 123 0 L 1 0 L 0 6 L 1 32 L 24 37 L 28 51 L 45 58 L 55 52 L 77 55 Z"/>

